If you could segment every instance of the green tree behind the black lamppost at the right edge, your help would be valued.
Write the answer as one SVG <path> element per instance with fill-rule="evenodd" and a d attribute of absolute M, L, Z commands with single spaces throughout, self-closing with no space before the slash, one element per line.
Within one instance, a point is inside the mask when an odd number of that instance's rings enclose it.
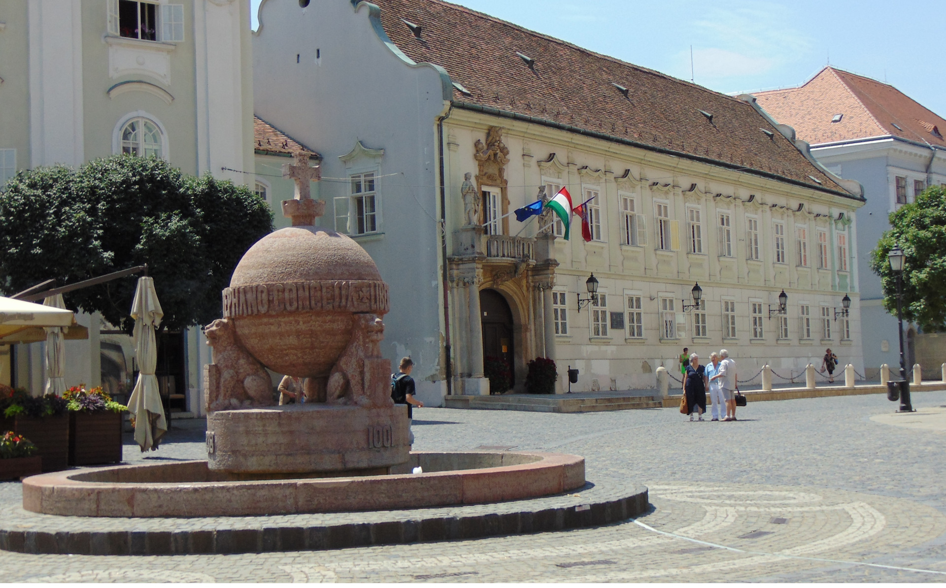
<path fill-rule="evenodd" d="M 927 333 L 946 331 L 946 189 L 927 188 L 912 204 L 890 215 L 891 229 L 871 252 L 870 268 L 881 276 L 884 307 L 897 314 L 897 276 L 887 253 L 899 245 L 903 262 L 903 319 Z"/>

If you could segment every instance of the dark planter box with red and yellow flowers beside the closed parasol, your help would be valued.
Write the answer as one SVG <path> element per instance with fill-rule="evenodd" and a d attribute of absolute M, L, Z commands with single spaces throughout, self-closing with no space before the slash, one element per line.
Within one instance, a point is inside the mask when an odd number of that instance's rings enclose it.
<path fill-rule="evenodd" d="M 69 465 L 117 463 L 122 459 L 121 421 L 127 406 L 101 388 L 66 390 L 69 407 Z"/>

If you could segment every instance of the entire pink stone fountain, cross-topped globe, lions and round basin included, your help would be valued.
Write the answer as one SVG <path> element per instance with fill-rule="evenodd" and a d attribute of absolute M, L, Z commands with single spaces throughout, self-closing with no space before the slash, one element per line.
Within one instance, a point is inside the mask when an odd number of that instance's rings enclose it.
<path fill-rule="evenodd" d="M 388 286 L 346 235 L 315 226 L 319 168 L 283 175 L 292 226 L 257 241 L 207 325 L 207 460 L 72 470 L 24 481 L 23 507 L 94 517 L 194 517 L 415 509 L 565 493 L 585 460 L 534 452 L 412 452 L 407 406 L 381 357 Z M 273 406 L 266 369 L 306 378 L 307 402 Z M 414 467 L 423 473 L 412 474 Z"/>

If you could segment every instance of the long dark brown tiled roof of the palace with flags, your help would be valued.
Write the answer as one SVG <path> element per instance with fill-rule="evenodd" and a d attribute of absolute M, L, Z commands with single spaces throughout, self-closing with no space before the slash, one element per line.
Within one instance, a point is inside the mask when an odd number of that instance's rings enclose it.
<path fill-rule="evenodd" d="M 442 0 L 373 2 L 401 51 L 443 66 L 468 92 L 454 89 L 457 106 L 513 112 L 850 196 L 737 98 Z M 405 21 L 420 26 L 419 37 Z"/>

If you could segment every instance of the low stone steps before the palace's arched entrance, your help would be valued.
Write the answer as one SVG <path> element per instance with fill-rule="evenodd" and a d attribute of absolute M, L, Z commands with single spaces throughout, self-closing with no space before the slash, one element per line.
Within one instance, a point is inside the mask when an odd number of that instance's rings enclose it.
<path fill-rule="evenodd" d="M 653 396 L 579 396 L 562 394 L 527 396 L 507 394 L 495 396 L 451 395 L 446 398 L 447 408 L 479 410 L 525 410 L 531 412 L 598 412 L 604 410 L 631 410 L 659 408 L 662 403 Z"/>

